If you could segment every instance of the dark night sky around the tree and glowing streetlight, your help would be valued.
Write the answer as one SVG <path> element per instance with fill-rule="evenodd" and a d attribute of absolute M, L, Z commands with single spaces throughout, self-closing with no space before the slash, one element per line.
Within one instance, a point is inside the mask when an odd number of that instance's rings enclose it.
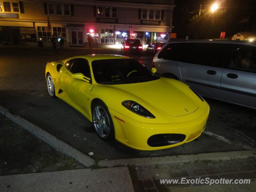
<path fill-rule="evenodd" d="M 226 37 L 246 30 L 256 33 L 256 0 L 175 0 L 172 32 L 177 33 L 177 38 L 185 38 L 188 35 L 189 20 L 199 13 L 200 4 L 204 10 L 213 3 L 219 4 L 218 11 L 226 9 L 226 16 L 230 18 L 230 22 L 223 29 Z M 246 19 L 249 22 L 241 22 Z"/>

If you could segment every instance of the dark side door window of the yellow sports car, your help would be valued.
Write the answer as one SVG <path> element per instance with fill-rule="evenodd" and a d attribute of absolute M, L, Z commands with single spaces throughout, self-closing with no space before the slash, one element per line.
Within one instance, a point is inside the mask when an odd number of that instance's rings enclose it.
<path fill-rule="evenodd" d="M 82 73 L 84 76 L 91 78 L 90 66 L 86 59 L 77 58 L 70 69 L 72 73 Z"/>

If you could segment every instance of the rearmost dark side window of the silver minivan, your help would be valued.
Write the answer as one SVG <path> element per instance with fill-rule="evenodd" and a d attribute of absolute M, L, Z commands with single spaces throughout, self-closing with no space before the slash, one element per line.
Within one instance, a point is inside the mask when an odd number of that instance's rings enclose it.
<path fill-rule="evenodd" d="M 154 44 L 155 46 L 155 44 Z M 181 61 L 184 43 L 170 43 L 158 54 L 159 59 Z"/>

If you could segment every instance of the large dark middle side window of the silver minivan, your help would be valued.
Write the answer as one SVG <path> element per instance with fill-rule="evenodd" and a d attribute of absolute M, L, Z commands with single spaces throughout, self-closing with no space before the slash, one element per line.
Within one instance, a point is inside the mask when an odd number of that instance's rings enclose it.
<path fill-rule="evenodd" d="M 228 44 L 221 43 L 191 43 L 185 44 L 183 62 L 219 67 L 224 66 Z"/>

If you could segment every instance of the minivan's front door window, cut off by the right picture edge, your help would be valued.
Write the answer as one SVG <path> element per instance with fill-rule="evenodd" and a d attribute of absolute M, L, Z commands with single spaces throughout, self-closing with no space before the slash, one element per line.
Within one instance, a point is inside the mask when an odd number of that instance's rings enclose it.
<path fill-rule="evenodd" d="M 231 58 L 228 68 L 256 73 L 256 47 L 231 44 Z"/>

